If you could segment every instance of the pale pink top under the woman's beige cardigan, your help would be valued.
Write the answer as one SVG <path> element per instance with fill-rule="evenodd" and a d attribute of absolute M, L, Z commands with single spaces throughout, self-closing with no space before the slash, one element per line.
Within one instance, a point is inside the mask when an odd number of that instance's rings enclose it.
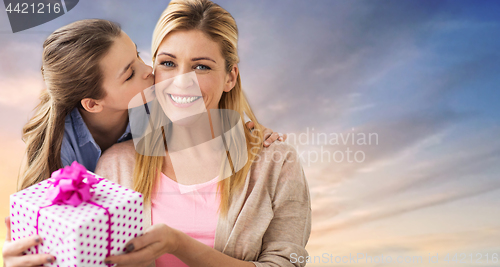
<path fill-rule="evenodd" d="M 158 194 L 151 202 L 152 224 L 164 223 L 213 248 L 220 203 L 216 194 L 218 177 L 201 184 L 182 185 L 161 173 Z M 188 193 L 181 194 L 179 188 Z M 166 253 L 156 259 L 156 266 L 188 265 Z"/>

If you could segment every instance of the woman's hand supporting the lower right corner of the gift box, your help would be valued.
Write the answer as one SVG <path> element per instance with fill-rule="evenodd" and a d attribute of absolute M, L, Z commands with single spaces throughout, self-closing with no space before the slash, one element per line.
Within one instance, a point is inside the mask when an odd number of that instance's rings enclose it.
<path fill-rule="evenodd" d="M 178 247 L 178 230 L 164 223 L 153 224 L 142 236 L 130 240 L 126 254 L 104 259 L 117 266 L 148 266 L 165 253 L 173 254 Z"/>

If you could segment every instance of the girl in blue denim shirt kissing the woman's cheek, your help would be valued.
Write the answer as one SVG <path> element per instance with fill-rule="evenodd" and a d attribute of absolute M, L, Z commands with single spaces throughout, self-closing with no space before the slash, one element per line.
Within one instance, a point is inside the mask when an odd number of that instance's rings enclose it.
<path fill-rule="evenodd" d="M 18 190 L 39 183 L 76 160 L 93 170 L 101 152 L 130 139 L 128 103 L 154 83 L 135 44 L 106 20 L 82 20 L 64 26 L 44 42 L 42 74 L 47 90 L 33 118 L 23 129 L 26 162 Z M 126 67 L 126 68 L 125 68 Z M 266 141 L 273 141 L 273 134 Z M 51 262 L 51 255 L 20 256 L 40 236 L 10 241 L 6 218 L 6 266 Z"/>

